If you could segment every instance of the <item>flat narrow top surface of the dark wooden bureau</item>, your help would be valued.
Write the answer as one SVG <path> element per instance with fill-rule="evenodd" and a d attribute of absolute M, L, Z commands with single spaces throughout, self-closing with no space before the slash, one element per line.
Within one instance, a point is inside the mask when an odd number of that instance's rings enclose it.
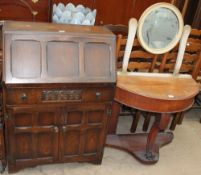
<path fill-rule="evenodd" d="M 64 25 L 42 22 L 4 21 L 5 33 L 73 33 L 115 37 L 107 28 L 101 26 Z"/>

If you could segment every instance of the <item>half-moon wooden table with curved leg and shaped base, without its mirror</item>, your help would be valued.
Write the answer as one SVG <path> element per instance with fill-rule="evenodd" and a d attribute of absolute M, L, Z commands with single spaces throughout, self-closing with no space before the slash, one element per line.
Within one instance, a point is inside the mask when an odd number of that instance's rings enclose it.
<path fill-rule="evenodd" d="M 142 163 L 156 163 L 159 148 L 173 139 L 173 133 L 159 131 L 166 129 L 171 113 L 190 108 L 198 92 L 197 83 L 188 76 L 118 75 L 106 146 L 125 150 Z M 150 132 L 115 135 L 119 103 L 158 113 Z"/>

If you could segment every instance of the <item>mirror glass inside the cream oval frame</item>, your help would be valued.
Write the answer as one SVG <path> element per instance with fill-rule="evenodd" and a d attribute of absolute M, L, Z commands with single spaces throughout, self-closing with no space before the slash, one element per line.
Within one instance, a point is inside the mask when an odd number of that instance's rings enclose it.
<path fill-rule="evenodd" d="M 168 47 L 178 32 L 179 20 L 176 14 L 165 7 L 151 11 L 142 25 L 142 38 L 153 49 Z"/>

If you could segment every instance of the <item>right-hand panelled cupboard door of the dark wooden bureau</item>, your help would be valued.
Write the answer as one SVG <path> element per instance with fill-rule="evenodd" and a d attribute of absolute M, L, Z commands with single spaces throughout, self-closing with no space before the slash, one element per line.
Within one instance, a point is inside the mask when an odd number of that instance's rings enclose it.
<path fill-rule="evenodd" d="M 101 160 L 108 116 L 105 105 L 65 109 L 61 130 L 63 161 Z"/>

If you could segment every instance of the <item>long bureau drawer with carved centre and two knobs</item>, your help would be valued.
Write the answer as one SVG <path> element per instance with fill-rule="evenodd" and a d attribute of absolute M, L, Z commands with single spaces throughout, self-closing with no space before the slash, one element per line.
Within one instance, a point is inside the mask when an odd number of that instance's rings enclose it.
<path fill-rule="evenodd" d="M 9 88 L 5 91 L 6 104 L 41 104 L 67 102 L 105 102 L 114 97 L 114 87 L 103 88 Z"/>

